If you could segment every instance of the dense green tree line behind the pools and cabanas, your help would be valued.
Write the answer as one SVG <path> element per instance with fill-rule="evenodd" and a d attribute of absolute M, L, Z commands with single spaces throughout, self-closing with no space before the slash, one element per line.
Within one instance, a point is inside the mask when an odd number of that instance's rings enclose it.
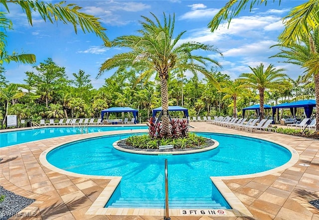
<path fill-rule="evenodd" d="M 100 117 L 101 110 L 110 107 L 131 107 L 139 110 L 142 121 L 147 121 L 152 110 L 161 106 L 158 77 L 154 81 L 138 81 L 139 74 L 130 71 L 115 74 L 105 79 L 101 88 L 93 88 L 90 74 L 79 70 L 72 74 L 74 79 L 68 79 L 65 67 L 58 66 L 51 58 L 33 68 L 34 72 L 25 72 L 23 84 L 6 81 L 4 69 L 0 69 L 0 120 L 5 114 L 34 120 Z M 264 67 L 261 64 L 252 69 L 260 73 Z M 249 88 L 249 81 L 254 79 L 252 76 L 231 80 L 226 74 L 214 69 L 210 71 L 219 87 L 205 78 L 199 79 L 197 75 L 187 78 L 181 73 L 171 73 L 167 83 L 169 105 L 185 107 L 191 116 L 242 116 L 242 108 L 259 103 L 258 90 Z M 267 83 L 269 87 L 271 83 Z M 276 105 L 315 96 L 314 83 L 303 82 L 301 76 L 296 80 L 286 78 L 280 83 L 285 86 L 279 88 L 276 81 L 272 83 L 272 89 L 266 89 L 265 104 Z M 173 114 L 182 116 L 178 112 Z"/>

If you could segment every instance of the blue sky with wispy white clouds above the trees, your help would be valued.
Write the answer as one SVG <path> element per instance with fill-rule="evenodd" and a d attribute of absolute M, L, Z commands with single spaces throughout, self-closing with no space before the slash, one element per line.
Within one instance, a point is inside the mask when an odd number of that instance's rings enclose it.
<path fill-rule="evenodd" d="M 55 3 L 55 1 L 52 1 Z M 195 41 L 213 45 L 218 48 L 223 57 L 214 52 L 201 52 L 218 61 L 218 68 L 231 79 L 236 79 L 241 73 L 251 72 L 250 67 L 263 63 L 286 69 L 285 73 L 296 79 L 303 70 L 293 64 L 287 64 L 277 58 L 269 58 L 279 52 L 276 47 L 279 34 L 283 31 L 282 17 L 301 0 L 269 0 L 267 6 L 258 5 L 249 11 L 249 6 L 235 17 L 230 25 L 221 25 L 211 32 L 207 25 L 219 9 L 227 3 L 226 0 L 67 0 L 82 7 L 81 11 L 101 18 L 102 25 L 107 28 L 106 34 L 110 40 L 123 35 L 135 35 L 141 28 L 141 16 L 152 17 L 154 13 L 162 20 L 166 15 L 175 14 L 174 36 L 186 31 L 181 41 Z M 48 58 L 60 67 L 65 67 L 68 79 L 74 79 L 72 73 L 83 70 L 91 77 L 94 88 L 104 85 L 105 79 L 112 76 L 114 70 L 105 72 L 96 79 L 101 64 L 123 48 L 104 47 L 103 42 L 94 33 L 76 34 L 71 24 L 45 22 L 36 12 L 32 13 L 33 26 L 28 24 L 26 15 L 15 4 L 8 3 L 7 18 L 12 20 L 13 29 L 8 30 L 7 51 L 9 53 L 25 52 L 36 55 L 35 64 L 4 63 L 6 80 L 11 83 L 24 83 L 25 72 L 35 72 L 32 67 L 39 65 Z M 3 8 L 0 8 L 3 11 Z M 209 68 L 210 69 L 210 68 Z M 185 74 L 192 77 L 190 73 Z M 199 75 L 199 77 L 202 77 Z"/>

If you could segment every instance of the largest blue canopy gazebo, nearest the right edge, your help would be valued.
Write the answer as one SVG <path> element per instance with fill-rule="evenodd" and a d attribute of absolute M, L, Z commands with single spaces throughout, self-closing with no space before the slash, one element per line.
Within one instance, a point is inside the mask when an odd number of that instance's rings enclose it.
<path fill-rule="evenodd" d="M 305 114 L 307 117 L 311 117 L 311 114 L 313 113 L 314 107 L 316 107 L 316 100 L 300 100 L 292 103 L 283 103 L 279 104 L 277 106 L 273 106 L 273 116 L 275 116 L 277 109 L 290 109 L 291 114 L 293 117 L 296 116 L 297 108 L 304 108 Z M 278 115 L 276 115 L 278 118 Z"/>

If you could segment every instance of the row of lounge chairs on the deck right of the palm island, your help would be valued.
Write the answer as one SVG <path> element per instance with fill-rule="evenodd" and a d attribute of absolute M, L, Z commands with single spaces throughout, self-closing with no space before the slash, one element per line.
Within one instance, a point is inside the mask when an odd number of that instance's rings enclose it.
<path fill-rule="evenodd" d="M 217 117 L 213 120 L 208 120 L 207 123 L 223 126 L 223 127 L 229 127 L 233 129 L 242 129 L 245 131 L 252 132 L 253 130 L 268 130 L 269 132 L 275 128 L 270 127 L 271 123 L 273 122 L 273 119 L 262 119 L 258 122 L 258 119 L 249 119 L 246 122 L 247 118 L 236 118 L 236 117 Z M 246 122 L 246 123 L 245 123 Z"/>

